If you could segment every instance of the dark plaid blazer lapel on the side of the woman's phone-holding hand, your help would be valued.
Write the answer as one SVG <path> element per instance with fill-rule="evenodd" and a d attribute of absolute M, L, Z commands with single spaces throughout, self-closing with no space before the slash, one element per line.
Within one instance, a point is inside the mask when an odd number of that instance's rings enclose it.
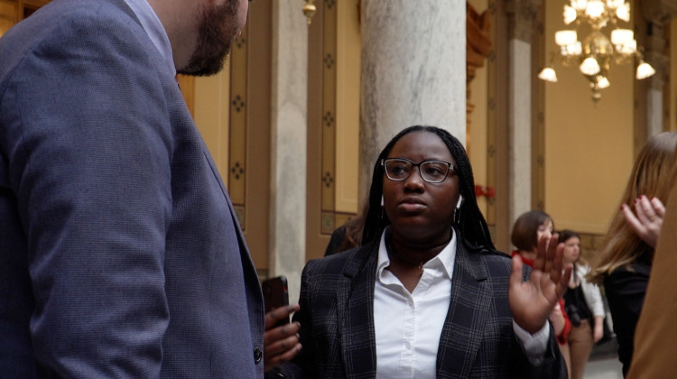
<path fill-rule="evenodd" d="M 376 377 L 376 332 L 374 329 L 374 289 L 376 283 L 376 244 L 360 248 L 348 263 L 347 281 L 337 291 L 338 338 L 346 378 Z M 368 373 L 367 375 L 365 375 Z"/>

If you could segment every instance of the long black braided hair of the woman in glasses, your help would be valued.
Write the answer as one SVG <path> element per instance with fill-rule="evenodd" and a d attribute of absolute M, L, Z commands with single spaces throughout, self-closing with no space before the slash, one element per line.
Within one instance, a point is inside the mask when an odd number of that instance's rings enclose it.
<path fill-rule="evenodd" d="M 483 246 L 487 249 L 496 250 L 491 242 L 487 221 L 478 208 L 478 199 L 475 197 L 475 180 L 472 168 L 468 160 L 468 154 L 463 144 L 444 129 L 435 126 L 413 125 L 398 133 L 385 145 L 378 155 L 374 165 L 374 175 L 369 189 L 369 209 L 366 213 L 365 227 L 362 233 L 362 245 L 373 242 L 380 238 L 385 226 L 390 225 L 390 220 L 381 209 L 381 197 L 383 196 L 384 167 L 382 160 L 387 158 L 393 146 L 403 135 L 413 132 L 428 132 L 441 138 L 447 145 L 456 165 L 454 171 L 459 176 L 459 192 L 463 196 L 463 202 L 454 215 L 454 223 L 459 228 L 460 237 L 469 245 Z"/>

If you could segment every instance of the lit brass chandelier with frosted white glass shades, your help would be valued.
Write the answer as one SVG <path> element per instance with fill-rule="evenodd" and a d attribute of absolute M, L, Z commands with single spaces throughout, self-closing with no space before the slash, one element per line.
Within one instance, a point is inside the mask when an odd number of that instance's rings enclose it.
<path fill-rule="evenodd" d="M 557 81 L 552 69 L 552 62 L 556 59 L 561 60 L 564 66 L 578 66 L 580 73 L 589 80 L 592 99 L 597 104 L 602 97 L 599 90 L 611 85 L 607 77 L 611 62 L 624 64 L 636 58 L 639 61 L 635 74 L 637 79 L 654 75 L 655 69 L 644 61 L 637 49 L 635 32 L 617 26 L 617 20 L 630 21 L 630 4 L 626 0 L 570 0 L 570 5 L 564 5 L 563 16 L 564 24 L 573 23 L 579 27 L 581 23 L 588 23 L 592 32 L 582 42 L 576 30 L 555 32 L 555 43 L 560 51 L 559 54 L 551 53 L 550 66 L 541 70 L 538 74 L 540 79 Z M 602 32 L 607 25 L 611 29 L 610 39 Z"/>

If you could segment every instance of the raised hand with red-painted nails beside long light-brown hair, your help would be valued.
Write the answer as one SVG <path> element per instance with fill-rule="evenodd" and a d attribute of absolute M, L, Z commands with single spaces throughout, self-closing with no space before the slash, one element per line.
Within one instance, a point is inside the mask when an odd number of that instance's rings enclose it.
<path fill-rule="evenodd" d="M 663 202 L 658 198 L 649 200 L 642 195 L 635 199 L 636 216 L 626 204 L 621 205 L 621 211 L 627 225 L 635 231 L 635 234 L 642 238 L 646 245 L 656 247 L 665 217 Z"/>

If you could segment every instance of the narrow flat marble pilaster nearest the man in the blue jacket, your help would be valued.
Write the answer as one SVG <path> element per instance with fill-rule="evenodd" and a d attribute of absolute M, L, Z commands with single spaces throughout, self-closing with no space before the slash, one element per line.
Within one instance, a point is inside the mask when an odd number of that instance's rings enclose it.
<path fill-rule="evenodd" d="M 285 275 L 296 302 L 305 264 L 308 24 L 301 5 L 273 2 L 269 276 Z"/>

